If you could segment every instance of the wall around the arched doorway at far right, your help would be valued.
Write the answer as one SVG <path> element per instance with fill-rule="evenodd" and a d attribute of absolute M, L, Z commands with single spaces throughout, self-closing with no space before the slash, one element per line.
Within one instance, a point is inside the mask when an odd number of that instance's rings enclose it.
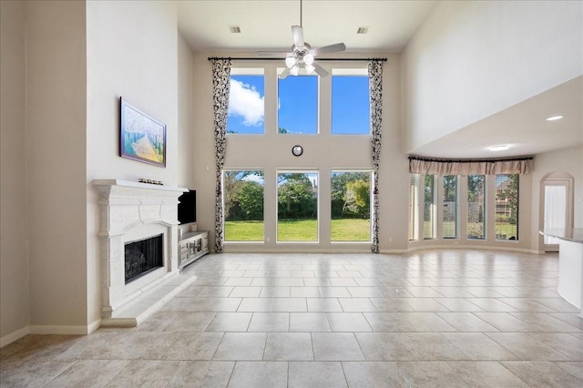
<path fill-rule="evenodd" d="M 542 251 L 543 240 L 538 231 L 543 226 L 543 204 L 540 186 L 542 180 L 553 172 L 567 173 L 573 177 L 573 223 L 575 228 L 583 228 L 583 146 L 546 152 L 535 158 L 532 173 L 532 250 Z"/>

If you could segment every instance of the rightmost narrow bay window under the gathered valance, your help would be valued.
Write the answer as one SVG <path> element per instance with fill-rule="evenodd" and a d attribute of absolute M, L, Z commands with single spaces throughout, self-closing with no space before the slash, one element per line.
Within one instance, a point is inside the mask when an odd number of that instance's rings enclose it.
<path fill-rule="evenodd" d="M 496 175 L 496 240 L 518 240 L 518 177 Z"/>

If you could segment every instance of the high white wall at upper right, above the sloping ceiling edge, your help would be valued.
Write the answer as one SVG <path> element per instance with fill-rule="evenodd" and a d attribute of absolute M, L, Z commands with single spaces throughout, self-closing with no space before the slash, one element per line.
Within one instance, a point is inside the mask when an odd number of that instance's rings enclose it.
<path fill-rule="evenodd" d="M 580 1 L 447 1 L 404 51 L 404 143 L 436 138 L 581 75 Z"/>

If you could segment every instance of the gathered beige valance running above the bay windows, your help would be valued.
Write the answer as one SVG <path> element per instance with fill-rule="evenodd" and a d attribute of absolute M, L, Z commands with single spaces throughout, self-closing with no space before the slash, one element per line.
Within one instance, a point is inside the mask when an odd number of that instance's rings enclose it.
<path fill-rule="evenodd" d="M 435 159 L 409 157 L 409 172 L 424 175 L 529 174 L 532 157 L 508 159 Z"/>

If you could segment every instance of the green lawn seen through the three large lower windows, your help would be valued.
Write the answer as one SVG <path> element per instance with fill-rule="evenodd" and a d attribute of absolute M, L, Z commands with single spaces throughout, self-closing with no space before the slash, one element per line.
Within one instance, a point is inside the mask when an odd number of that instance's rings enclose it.
<path fill-rule="evenodd" d="M 317 220 L 280 220 L 278 241 L 318 240 Z M 225 221 L 226 241 L 262 241 L 263 221 Z M 370 241 L 369 220 L 332 220 L 332 241 Z"/>

